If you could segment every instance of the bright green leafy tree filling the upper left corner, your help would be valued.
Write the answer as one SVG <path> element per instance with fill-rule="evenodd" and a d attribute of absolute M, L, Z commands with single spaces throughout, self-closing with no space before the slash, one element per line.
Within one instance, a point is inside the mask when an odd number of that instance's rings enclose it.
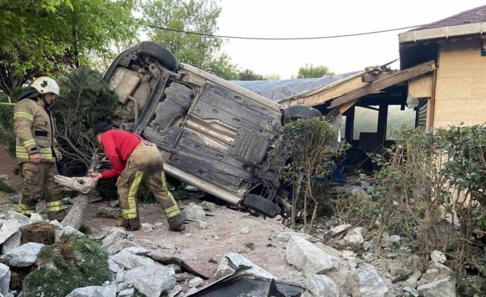
<path fill-rule="evenodd" d="M 109 57 L 136 37 L 135 0 L 0 0 L 0 90 Z"/>

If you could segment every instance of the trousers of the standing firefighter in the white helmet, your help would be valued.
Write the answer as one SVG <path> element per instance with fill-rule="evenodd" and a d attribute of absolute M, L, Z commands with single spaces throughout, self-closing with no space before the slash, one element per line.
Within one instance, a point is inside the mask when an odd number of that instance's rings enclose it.
<path fill-rule="evenodd" d="M 65 209 L 61 201 L 61 186 L 54 182 L 56 163 L 22 163 L 23 190 L 18 211 L 30 215 L 36 211 L 36 204 L 44 197 L 47 218 L 62 221 Z"/>

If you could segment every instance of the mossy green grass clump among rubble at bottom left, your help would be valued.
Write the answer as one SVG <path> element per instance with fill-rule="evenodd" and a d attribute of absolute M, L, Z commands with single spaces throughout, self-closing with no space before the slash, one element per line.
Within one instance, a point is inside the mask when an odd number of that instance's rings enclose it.
<path fill-rule="evenodd" d="M 78 287 L 101 285 L 110 279 L 107 260 L 96 241 L 65 236 L 60 243 L 41 249 L 38 267 L 24 279 L 23 296 L 66 296 Z"/>

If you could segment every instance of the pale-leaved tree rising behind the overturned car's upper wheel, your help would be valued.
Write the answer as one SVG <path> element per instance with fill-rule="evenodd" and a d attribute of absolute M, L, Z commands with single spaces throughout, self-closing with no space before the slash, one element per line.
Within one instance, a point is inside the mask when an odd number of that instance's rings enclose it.
<path fill-rule="evenodd" d="M 213 1 L 156 0 L 142 6 L 145 21 L 151 25 L 180 31 L 214 34 L 218 30 L 221 8 Z M 207 35 L 185 34 L 152 29 L 152 41 L 164 45 L 179 61 L 221 76 L 237 79 L 235 65 L 221 53 L 223 40 Z"/>

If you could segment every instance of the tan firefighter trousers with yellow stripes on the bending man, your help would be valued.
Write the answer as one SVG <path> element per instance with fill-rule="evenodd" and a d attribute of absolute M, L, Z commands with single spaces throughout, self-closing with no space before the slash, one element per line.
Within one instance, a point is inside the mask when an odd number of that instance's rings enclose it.
<path fill-rule="evenodd" d="M 117 181 L 124 221 L 123 227 L 129 229 L 138 229 L 139 227 L 136 198 L 140 183 L 144 183 L 154 194 L 156 201 L 164 209 L 171 229 L 178 231 L 184 224 L 184 218 L 177 202 L 171 192 L 167 190 L 163 165 L 164 160 L 158 148 L 148 141 L 142 141 L 131 153 L 127 165 Z"/>

